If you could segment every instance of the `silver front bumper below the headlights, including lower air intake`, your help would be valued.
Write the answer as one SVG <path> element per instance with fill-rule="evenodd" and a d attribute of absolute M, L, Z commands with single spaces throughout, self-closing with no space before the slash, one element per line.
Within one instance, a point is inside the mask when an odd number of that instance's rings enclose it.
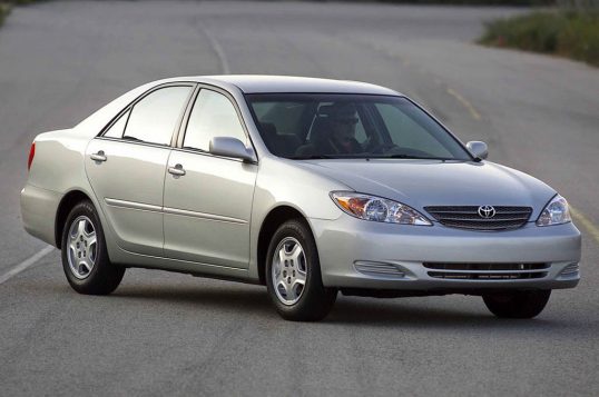
<path fill-rule="evenodd" d="M 326 287 L 393 290 L 557 289 L 580 280 L 573 224 L 471 231 L 310 219 Z M 446 269 L 439 269 L 444 267 Z M 463 266 L 462 266 L 463 265 Z M 431 268 L 433 267 L 433 268 Z M 434 268 L 438 267 L 438 268 Z"/>

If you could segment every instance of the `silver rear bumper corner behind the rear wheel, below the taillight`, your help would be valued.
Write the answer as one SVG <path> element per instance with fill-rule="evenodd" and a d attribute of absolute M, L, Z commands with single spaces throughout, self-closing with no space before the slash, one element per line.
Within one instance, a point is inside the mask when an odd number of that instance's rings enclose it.
<path fill-rule="evenodd" d="M 55 221 L 62 195 L 26 185 L 21 190 L 21 217 L 31 236 L 56 247 Z"/>

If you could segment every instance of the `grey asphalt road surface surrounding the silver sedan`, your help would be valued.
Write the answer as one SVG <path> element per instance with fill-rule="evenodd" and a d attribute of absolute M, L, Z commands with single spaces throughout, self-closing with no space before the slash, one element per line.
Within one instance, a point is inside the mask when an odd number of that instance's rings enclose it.
<path fill-rule="evenodd" d="M 599 71 L 471 43 L 483 20 L 515 12 L 17 8 L 0 29 L 0 279 L 46 247 L 22 230 L 18 204 L 37 133 L 143 82 L 222 72 L 356 79 L 413 96 L 464 141 L 488 141 L 491 160 L 571 201 L 583 279 L 534 320 L 498 320 L 475 297 L 341 297 L 325 321 L 293 324 L 262 287 L 163 271 L 130 270 L 114 295 L 80 296 L 55 250 L 0 284 L 0 395 L 597 395 Z"/>

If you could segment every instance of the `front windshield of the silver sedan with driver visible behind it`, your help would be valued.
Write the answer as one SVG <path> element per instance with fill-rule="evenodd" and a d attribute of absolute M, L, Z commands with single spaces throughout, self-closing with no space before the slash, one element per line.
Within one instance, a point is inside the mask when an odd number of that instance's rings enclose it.
<path fill-rule="evenodd" d="M 403 97 L 256 93 L 246 99 L 266 147 L 278 157 L 472 160 Z"/>

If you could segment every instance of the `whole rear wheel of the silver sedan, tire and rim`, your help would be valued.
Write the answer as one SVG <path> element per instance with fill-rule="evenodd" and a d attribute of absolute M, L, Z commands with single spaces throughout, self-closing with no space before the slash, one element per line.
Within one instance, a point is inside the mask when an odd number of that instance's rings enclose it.
<path fill-rule="evenodd" d="M 125 268 L 110 264 L 96 208 L 77 204 L 62 230 L 62 269 L 79 294 L 108 295 L 117 289 Z"/>

